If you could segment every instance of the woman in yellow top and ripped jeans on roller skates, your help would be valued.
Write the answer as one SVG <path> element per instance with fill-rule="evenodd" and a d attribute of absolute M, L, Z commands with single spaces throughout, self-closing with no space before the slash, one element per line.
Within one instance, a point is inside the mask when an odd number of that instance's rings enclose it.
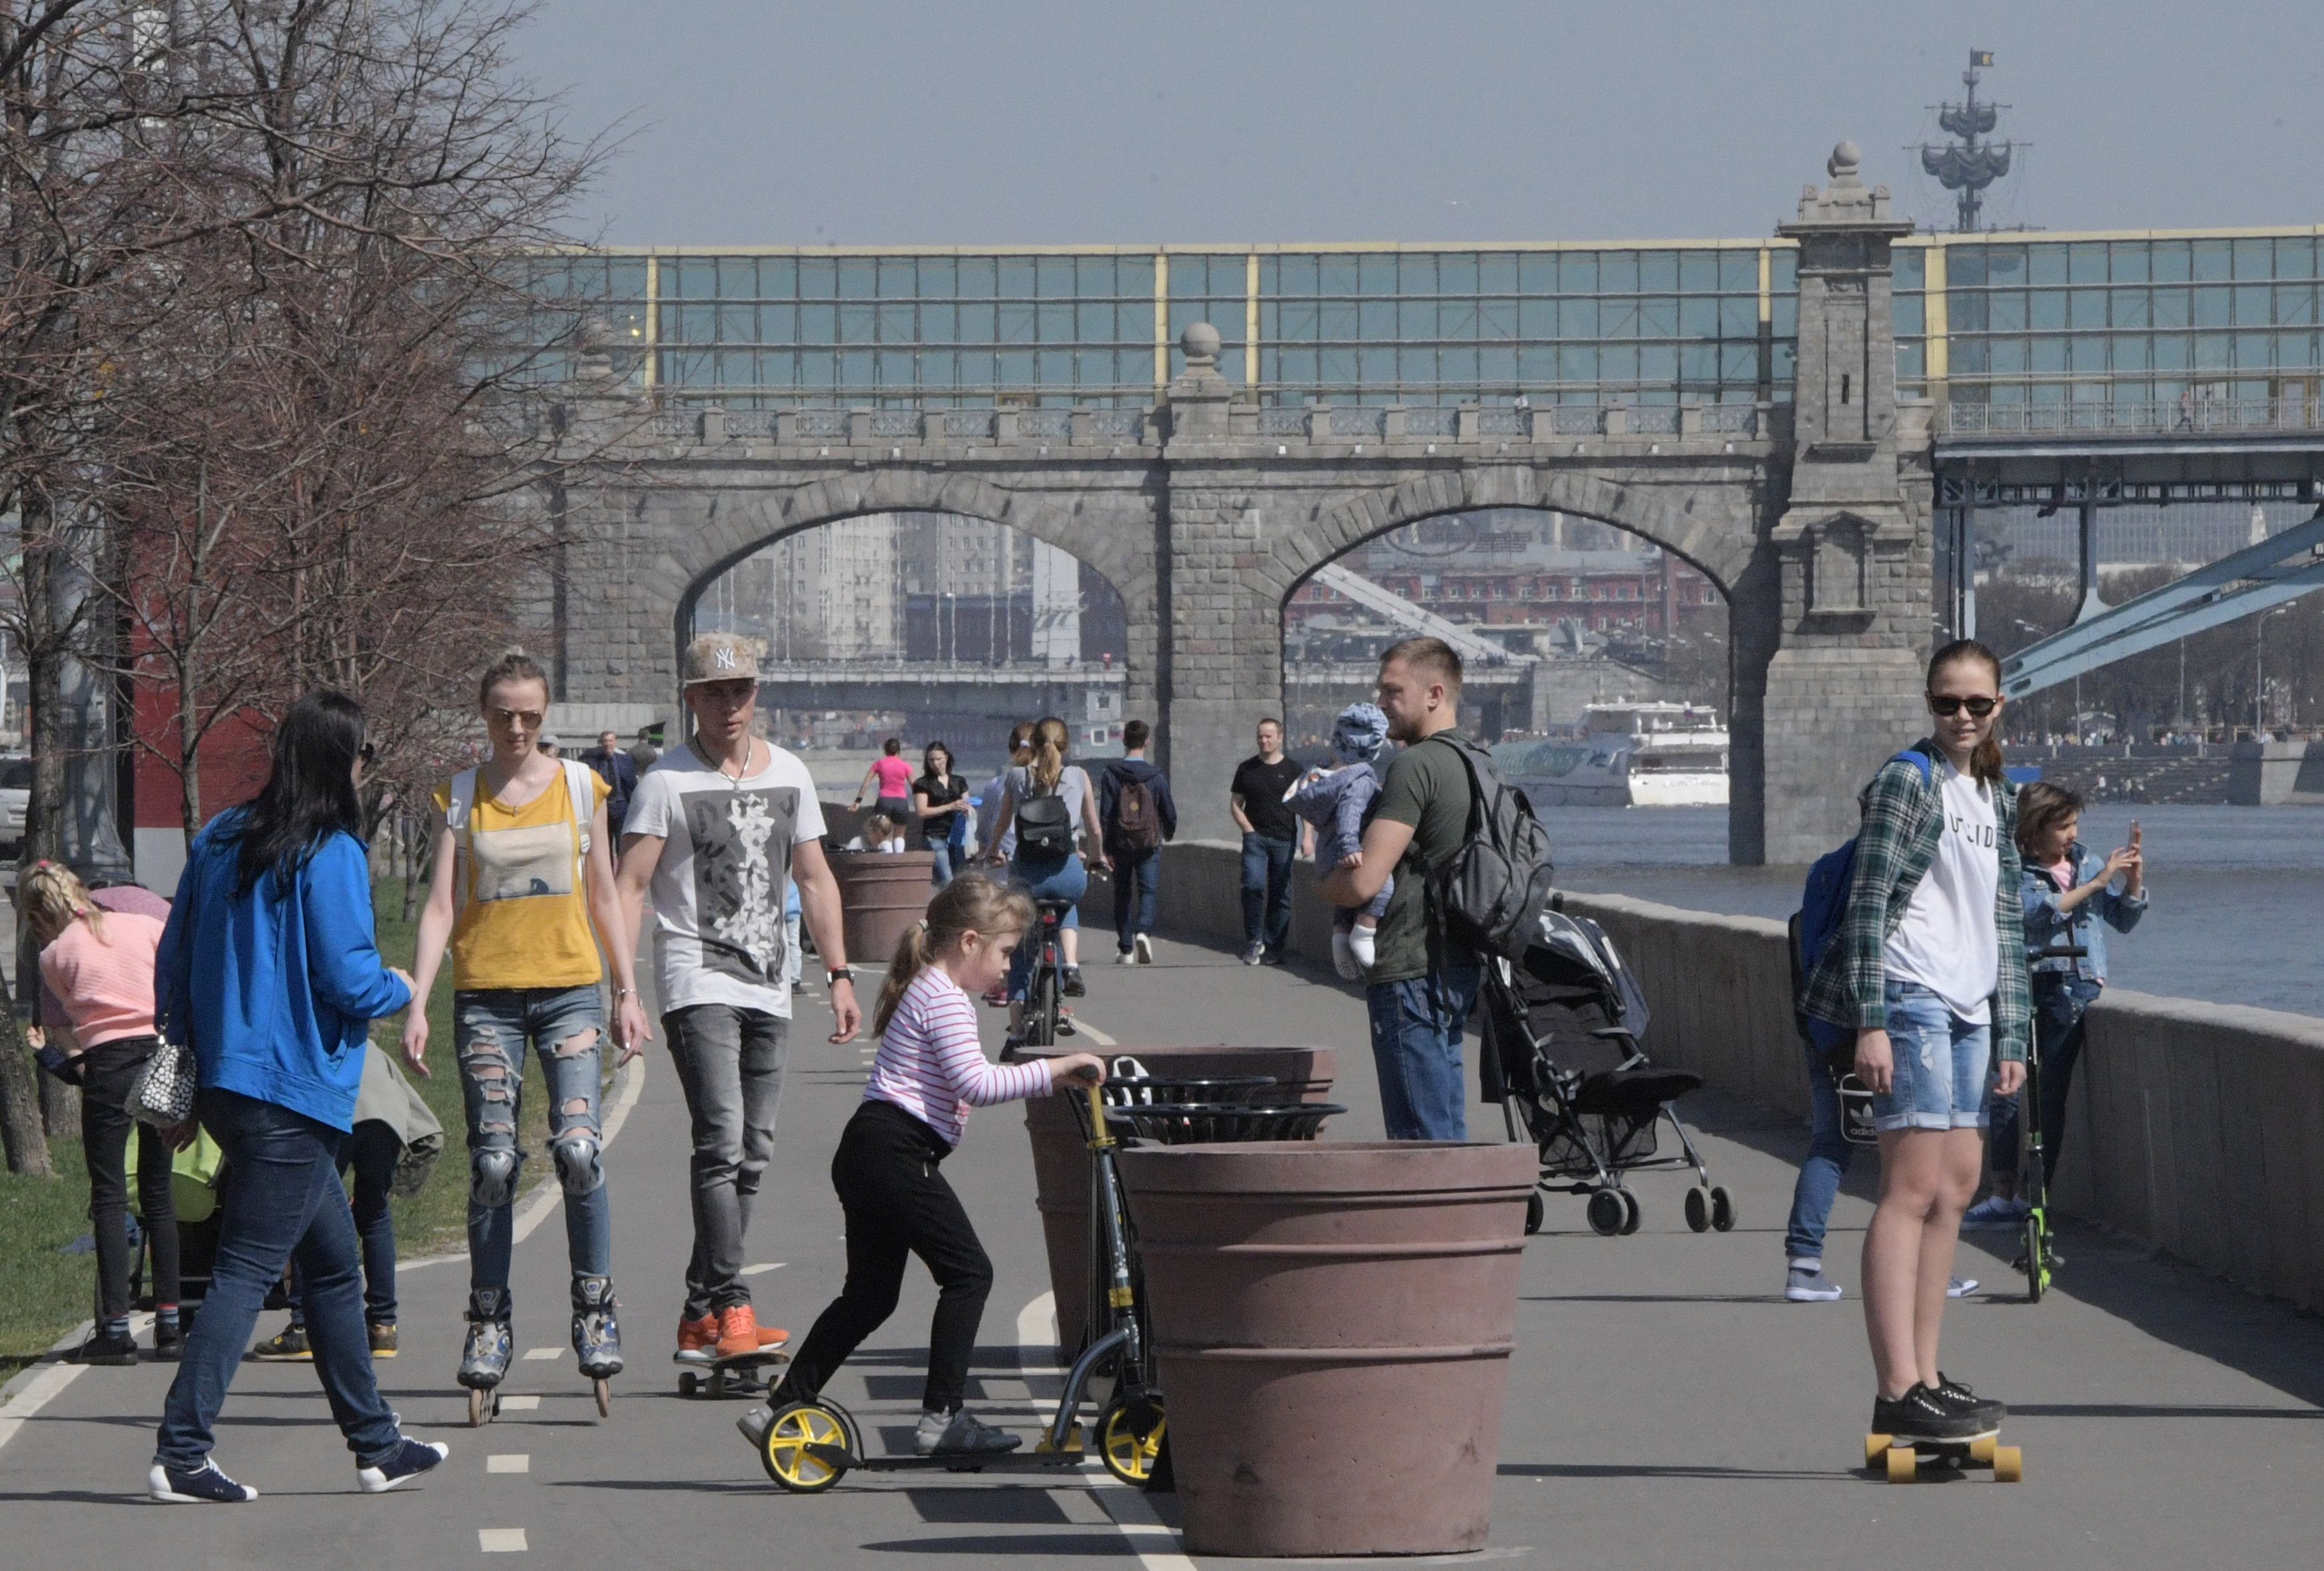
<path fill-rule="evenodd" d="M 483 674 L 479 706 L 493 758 L 435 792 L 435 874 L 411 967 L 404 1062 L 428 1074 L 428 995 L 451 939 L 453 1050 L 467 1102 L 469 1164 L 460 1385 L 488 1392 L 509 1369 L 509 1250 L 516 1176 L 525 1160 L 516 1113 L 528 1041 L 541 1055 L 548 1155 L 565 1185 L 574 1353 L 593 1380 L 621 1371 L 614 1208 L 604 1192 L 597 1118 L 600 948 L 614 967 L 614 1036 L 623 1062 L 644 1048 L 648 1027 L 632 957 L 621 944 L 604 776 L 539 751 L 548 679 L 523 653 L 502 655 Z M 474 1397 L 469 1406 L 474 1420 Z"/>

